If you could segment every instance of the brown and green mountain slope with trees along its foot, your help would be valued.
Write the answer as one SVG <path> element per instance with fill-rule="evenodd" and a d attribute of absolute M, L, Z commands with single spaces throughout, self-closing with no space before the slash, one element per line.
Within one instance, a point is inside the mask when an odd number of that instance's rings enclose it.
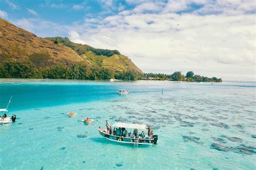
<path fill-rule="evenodd" d="M 117 50 L 40 38 L 0 19 L 0 77 L 136 80 L 143 72 Z"/>

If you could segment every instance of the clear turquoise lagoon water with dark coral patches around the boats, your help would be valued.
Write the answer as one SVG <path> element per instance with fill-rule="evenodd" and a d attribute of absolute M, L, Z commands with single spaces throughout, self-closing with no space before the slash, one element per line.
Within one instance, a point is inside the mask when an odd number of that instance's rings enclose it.
<path fill-rule="evenodd" d="M 255 89 L 253 82 L 2 79 L 0 104 L 12 95 L 9 112 L 18 119 L 0 125 L 0 169 L 255 169 Z M 84 117 L 92 125 L 79 122 Z M 97 132 L 106 119 L 151 124 L 158 145 L 108 141 Z"/>

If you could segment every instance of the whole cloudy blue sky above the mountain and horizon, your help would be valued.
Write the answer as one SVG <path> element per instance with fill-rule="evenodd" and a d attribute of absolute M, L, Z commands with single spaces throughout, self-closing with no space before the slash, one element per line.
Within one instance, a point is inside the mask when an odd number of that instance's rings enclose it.
<path fill-rule="evenodd" d="M 0 0 L 0 17 L 39 37 L 117 49 L 144 73 L 256 81 L 254 0 Z"/>

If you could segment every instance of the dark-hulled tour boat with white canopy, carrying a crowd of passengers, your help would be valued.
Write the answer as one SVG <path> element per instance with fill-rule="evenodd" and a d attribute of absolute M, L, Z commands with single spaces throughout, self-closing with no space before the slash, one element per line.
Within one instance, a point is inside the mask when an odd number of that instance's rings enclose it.
<path fill-rule="evenodd" d="M 112 126 L 112 128 L 117 129 L 117 128 L 121 128 L 123 130 L 127 130 L 130 129 L 130 134 L 129 137 L 122 137 L 122 136 L 117 136 L 114 135 L 113 133 L 109 134 L 107 132 L 107 130 L 102 129 L 99 127 L 98 131 L 99 134 L 101 136 L 103 136 L 104 138 L 106 138 L 107 140 L 111 140 L 111 141 L 115 141 L 117 143 L 124 143 L 124 144 L 133 144 L 133 145 L 156 145 L 157 144 L 157 140 L 158 140 L 158 136 L 154 135 L 152 138 L 142 138 L 142 137 L 130 137 L 132 130 L 147 130 L 147 126 L 146 125 L 142 125 L 142 124 L 130 124 L 130 123 L 114 123 Z"/>

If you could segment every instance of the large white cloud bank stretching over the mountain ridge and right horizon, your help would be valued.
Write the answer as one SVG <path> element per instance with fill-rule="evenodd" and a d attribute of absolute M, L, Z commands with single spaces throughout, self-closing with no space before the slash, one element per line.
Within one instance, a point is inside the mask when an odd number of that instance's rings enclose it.
<path fill-rule="evenodd" d="M 201 6 L 192 9 L 192 3 Z M 184 10 L 192 12 L 176 13 Z M 85 19 L 82 24 L 61 26 L 31 19 L 15 24 L 42 37 L 68 34 L 77 43 L 118 49 L 144 72 L 193 70 L 224 80 L 255 80 L 253 11 L 252 1 L 140 2 L 133 10 Z"/>

